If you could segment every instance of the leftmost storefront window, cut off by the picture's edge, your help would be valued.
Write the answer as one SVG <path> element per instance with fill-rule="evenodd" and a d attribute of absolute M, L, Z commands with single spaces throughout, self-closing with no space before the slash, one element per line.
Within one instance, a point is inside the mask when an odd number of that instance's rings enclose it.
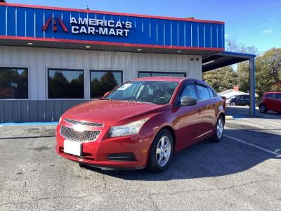
<path fill-rule="evenodd" d="M 28 98 L 27 68 L 0 68 L 0 98 Z"/>

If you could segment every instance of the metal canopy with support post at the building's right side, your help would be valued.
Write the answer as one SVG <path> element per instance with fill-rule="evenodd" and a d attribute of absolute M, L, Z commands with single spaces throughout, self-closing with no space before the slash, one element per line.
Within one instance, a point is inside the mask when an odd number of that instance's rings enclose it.
<path fill-rule="evenodd" d="M 255 88 L 255 62 L 256 55 L 247 53 L 235 53 L 228 51 L 221 51 L 214 53 L 211 56 L 202 58 L 202 72 L 223 68 L 228 65 L 234 65 L 242 61 L 249 60 L 249 95 L 250 95 L 250 109 L 249 115 L 256 115 L 256 88 Z"/>

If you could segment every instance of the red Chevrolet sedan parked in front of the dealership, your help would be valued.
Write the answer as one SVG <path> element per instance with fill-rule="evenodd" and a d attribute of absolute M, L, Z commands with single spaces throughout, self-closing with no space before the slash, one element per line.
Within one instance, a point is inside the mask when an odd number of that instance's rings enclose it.
<path fill-rule="evenodd" d="M 56 151 L 81 167 L 162 172 L 181 149 L 204 139 L 221 141 L 224 105 L 197 79 L 133 79 L 67 110 L 57 127 Z"/>

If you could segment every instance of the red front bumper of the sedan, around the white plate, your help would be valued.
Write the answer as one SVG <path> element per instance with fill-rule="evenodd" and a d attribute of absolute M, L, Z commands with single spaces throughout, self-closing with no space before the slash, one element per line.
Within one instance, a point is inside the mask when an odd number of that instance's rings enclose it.
<path fill-rule="evenodd" d="M 99 167 L 101 169 L 141 169 L 146 166 L 150 141 L 134 136 L 107 138 L 109 128 L 103 128 L 96 141 L 82 142 L 81 156 L 64 152 L 65 138 L 60 134 L 60 124 L 56 134 L 56 151 L 58 155 L 84 165 Z M 133 160 L 112 160 L 111 154 L 131 153 Z"/>

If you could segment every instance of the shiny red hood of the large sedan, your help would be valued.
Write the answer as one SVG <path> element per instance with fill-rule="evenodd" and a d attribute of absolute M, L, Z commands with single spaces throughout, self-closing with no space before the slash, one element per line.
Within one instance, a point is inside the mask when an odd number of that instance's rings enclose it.
<path fill-rule="evenodd" d="M 106 126 L 122 125 L 153 113 L 159 113 L 169 105 L 152 103 L 96 100 L 74 106 L 67 110 L 63 118 L 71 120 L 103 123 Z"/>

